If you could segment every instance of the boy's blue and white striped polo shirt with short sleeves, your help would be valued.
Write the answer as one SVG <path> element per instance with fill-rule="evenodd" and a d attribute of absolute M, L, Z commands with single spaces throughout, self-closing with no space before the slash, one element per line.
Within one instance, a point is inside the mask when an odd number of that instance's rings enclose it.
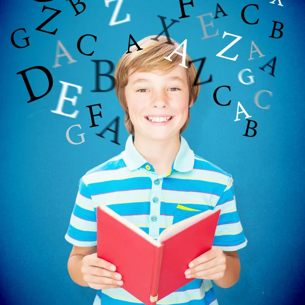
<path fill-rule="evenodd" d="M 173 223 L 208 209 L 221 209 L 213 245 L 223 251 L 246 247 L 232 175 L 195 155 L 181 135 L 171 170 L 158 174 L 133 141 L 134 135 L 130 135 L 124 151 L 87 171 L 79 180 L 65 235 L 68 242 L 78 247 L 96 246 L 97 207 L 107 205 L 154 239 Z M 134 303 L 142 302 L 127 292 L 124 285 L 97 290 L 94 300 L 94 305 Z M 194 279 L 157 304 L 217 305 L 218 301 L 211 280 Z"/>

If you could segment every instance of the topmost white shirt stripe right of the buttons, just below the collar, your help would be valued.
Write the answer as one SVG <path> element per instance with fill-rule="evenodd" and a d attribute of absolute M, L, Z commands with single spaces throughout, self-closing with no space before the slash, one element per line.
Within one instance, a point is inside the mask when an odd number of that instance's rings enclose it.
<path fill-rule="evenodd" d="M 215 182 L 225 186 L 227 185 L 229 178 L 228 176 L 222 173 L 205 170 L 205 169 L 193 169 L 191 172 L 187 172 L 183 174 L 179 172 L 175 172 L 170 177 L 178 178 L 178 179 L 203 180 L 208 182 Z"/>

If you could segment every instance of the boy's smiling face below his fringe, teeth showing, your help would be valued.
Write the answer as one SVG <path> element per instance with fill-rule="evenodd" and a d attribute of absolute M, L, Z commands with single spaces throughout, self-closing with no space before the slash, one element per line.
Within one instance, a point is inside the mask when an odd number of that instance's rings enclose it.
<path fill-rule="evenodd" d="M 135 135 L 149 139 L 165 140 L 179 134 L 193 106 L 193 101 L 189 106 L 187 71 L 181 66 L 169 73 L 133 73 L 125 97 Z"/>

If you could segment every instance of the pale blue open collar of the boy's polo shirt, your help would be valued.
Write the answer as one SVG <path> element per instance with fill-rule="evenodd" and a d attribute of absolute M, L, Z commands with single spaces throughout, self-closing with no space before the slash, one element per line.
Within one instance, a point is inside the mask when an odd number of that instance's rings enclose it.
<path fill-rule="evenodd" d="M 134 135 L 129 135 L 126 141 L 125 150 L 122 152 L 123 160 L 127 168 L 132 171 L 140 167 L 144 167 L 146 170 L 154 172 L 154 167 L 150 163 L 148 163 L 145 158 L 139 153 L 139 151 L 134 146 L 133 141 Z M 189 147 L 186 139 L 180 135 L 180 148 L 173 162 L 172 169 L 175 169 L 179 172 L 188 172 L 193 168 L 194 151 Z"/>

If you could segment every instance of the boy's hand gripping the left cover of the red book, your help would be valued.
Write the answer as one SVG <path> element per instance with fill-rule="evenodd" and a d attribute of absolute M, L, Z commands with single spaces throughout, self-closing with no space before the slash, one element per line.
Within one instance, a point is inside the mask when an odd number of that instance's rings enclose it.
<path fill-rule="evenodd" d="M 100 290 L 118 288 L 123 285 L 123 281 L 120 281 L 122 276 L 114 272 L 115 269 L 116 267 L 111 263 L 98 258 L 97 253 L 93 253 L 83 257 L 80 271 L 89 287 Z"/>

